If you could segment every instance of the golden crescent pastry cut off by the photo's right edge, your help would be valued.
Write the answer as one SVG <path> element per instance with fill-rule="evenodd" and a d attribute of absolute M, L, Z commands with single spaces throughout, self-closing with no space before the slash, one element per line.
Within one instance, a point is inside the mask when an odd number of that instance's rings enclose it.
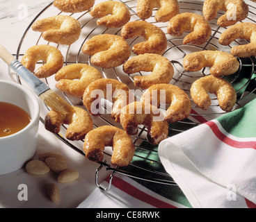
<path fill-rule="evenodd" d="M 224 46 L 229 45 L 237 39 L 249 40 L 250 43 L 233 46 L 230 53 L 233 56 L 247 58 L 256 56 L 256 24 L 251 22 L 243 22 L 228 27 L 221 33 L 218 42 Z"/>

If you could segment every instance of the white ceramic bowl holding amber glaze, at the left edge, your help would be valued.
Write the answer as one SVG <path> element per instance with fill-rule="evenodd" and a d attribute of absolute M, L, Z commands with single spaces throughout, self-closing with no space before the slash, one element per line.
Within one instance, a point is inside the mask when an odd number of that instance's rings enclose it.
<path fill-rule="evenodd" d="M 39 103 L 33 92 L 10 81 L 0 80 L 0 101 L 25 110 L 31 122 L 19 132 L 0 137 L 0 175 L 16 171 L 35 154 L 38 144 Z"/>

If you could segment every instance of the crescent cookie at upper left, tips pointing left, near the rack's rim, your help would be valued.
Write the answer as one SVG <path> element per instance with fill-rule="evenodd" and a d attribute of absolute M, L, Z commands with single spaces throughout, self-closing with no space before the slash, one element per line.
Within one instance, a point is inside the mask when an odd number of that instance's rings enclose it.
<path fill-rule="evenodd" d="M 81 25 L 68 15 L 54 15 L 33 23 L 33 31 L 42 33 L 42 38 L 56 44 L 70 45 L 81 35 Z"/>

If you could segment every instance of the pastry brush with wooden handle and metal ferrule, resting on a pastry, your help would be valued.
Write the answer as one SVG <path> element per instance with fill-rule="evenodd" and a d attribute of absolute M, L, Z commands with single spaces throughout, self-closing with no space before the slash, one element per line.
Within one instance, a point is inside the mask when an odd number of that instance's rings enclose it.
<path fill-rule="evenodd" d="M 0 44 L 0 58 L 6 62 L 10 68 L 13 69 L 26 83 L 29 84 L 31 89 L 37 94 L 42 101 L 49 106 L 52 110 L 67 114 L 72 112 L 73 108 L 70 104 L 64 101 L 61 96 L 56 94 L 52 89 L 36 77 L 29 69 L 26 69 L 15 57 Z"/>

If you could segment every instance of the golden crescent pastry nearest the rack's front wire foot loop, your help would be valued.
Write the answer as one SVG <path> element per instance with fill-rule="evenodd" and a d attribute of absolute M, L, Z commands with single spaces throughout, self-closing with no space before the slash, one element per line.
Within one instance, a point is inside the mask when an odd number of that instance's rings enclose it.
<path fill-rule="evenodd" d="M 105 146 L 113 147 L 111 164 L 125 167 L 134 157 L 134 144 L 124 130 L 115 126 L 99 126 L 86 135 L 83 152 L 89 160 L 100 162 Z"/>

